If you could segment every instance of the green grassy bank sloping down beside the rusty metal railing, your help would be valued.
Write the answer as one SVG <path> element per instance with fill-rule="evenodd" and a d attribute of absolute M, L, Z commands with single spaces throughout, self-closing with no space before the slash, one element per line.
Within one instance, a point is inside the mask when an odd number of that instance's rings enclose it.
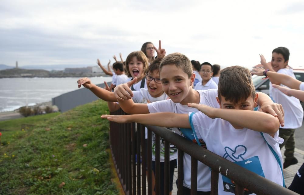
<path fill-rule="evenodd" d="M 0 122 L 0 194 L 117 194 L 107 104 Z M 21 124 L 34 124 L 21 129 Z M 3 131 L 5 130 L 5 131 Z"/>

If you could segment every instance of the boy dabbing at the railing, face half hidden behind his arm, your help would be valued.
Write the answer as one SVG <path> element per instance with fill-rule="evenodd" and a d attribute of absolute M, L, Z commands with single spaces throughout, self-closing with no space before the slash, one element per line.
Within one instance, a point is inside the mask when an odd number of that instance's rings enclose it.
<path fill-rule="evenodd" d="M 218 94 L 216 100 L 221 109 L 188 104 L 188 107 L 197 108 L 201 112 L 189 112 L 189 115 L 169 112 L 104 115 L 102 118 L 119 123 L 138 122 L 163 127 L 192 127 L 199 145 L 201 140 L 204 140 L 208 150 L 285 186 L 282 155 L 278 146 L 283 141 L 278 137 L 280 123 L 277 117 L 253 111 L 257 106 L 258 94 L 255 93 L 250 71 L 240 66 L 223 69 L 219 78 Z M 198 174 L 201 171 L 198 169 Z M 205 180 L 206 177 L 208 176 L 205 175 L 202 179 Z M 210 181 L 209 177 L 208 179 Z M 233 182 L 222 175 L 219 175 L 218 189 L 219 194 L 235 192 Z"/>

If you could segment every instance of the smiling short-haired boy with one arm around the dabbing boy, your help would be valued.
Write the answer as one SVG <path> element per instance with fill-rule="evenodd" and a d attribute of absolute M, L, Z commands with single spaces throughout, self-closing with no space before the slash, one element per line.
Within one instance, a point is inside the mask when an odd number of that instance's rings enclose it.
<path fill-rule="evenodd" d="M 126 84 L 117 86 L 114 89 L 120 107 L 129 114 L 147 114 L 156 112 L 174 112 L 180 114 L 188 114 L 188 112 L 197 112 L 193 107 L 187 104 L 199 103 L 212 107 L 219 107 L 216 101 L 217 90 L 194 90 L 192 84 L 195 79 L 192 72 L 192 64 L 190 60 L 180 53 L 169 54 L 163 58 L 160 64 L 160 78 L 164 92 L 170 100 L 153 102 L 151 104 L 136 104 L 132 101 L 133 92 Z M 271 99 L 263 93 L 259 93 L 258 99 L 261 109 L 277 116 L 283 122 L 283 114 L 281 106 L 274 104 Z M 128 101 L 124 101 L 128 100 Z M 275 111 L 273 109 L 275 109 Z M 265 110 L 266 109 L 266 110 Z M 277 114 L 276 114 L 277 113 Z M 189 140 L 195 140 L 191 129 L 181 129 L 182 133 Z M 207 146 L 208 147 L 208 146 Z M 191 188 L 191 157 L 184 154 L 184 194 L 190 194 Z M 198 194 L 210 193 L 211 174 L 209 168 L 198 162 Z"/>

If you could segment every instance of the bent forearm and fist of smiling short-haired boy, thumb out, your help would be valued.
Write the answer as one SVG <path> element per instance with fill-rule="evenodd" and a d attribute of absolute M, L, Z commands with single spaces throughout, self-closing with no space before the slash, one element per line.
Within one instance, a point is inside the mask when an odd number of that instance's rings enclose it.
<path fill-rule="evenodd" d="M 123 111 L 128 114 L 148 114 L 149 109 L 147 104 L 137 104 L 132 100 L 133 92 L 130 87 L 137 81 L 137 78 L 134 78 L 132 81 L 129 81 L 124 84 L 117 85 L 114 88 L 114 95 L 119 103 L 119 106 Z"/>

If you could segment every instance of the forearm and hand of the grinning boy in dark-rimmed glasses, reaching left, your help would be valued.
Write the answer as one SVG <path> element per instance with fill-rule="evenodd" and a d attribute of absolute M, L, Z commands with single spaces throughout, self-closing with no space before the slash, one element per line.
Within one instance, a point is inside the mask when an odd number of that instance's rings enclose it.
<path fill-rule="evenodd" d="M 78 88 L 80 88 L 81 85 L 83 85 L 85 88 L 92 91 L 98 98 L 104 101 L 117 101 L 113 92 L 107 91 L 103 88 L 98 87 L 95 84 L 92 84 L 89 78 L 86 77 L 80 78 L 78 79 L 77 84 L 78 84 Z"/>

